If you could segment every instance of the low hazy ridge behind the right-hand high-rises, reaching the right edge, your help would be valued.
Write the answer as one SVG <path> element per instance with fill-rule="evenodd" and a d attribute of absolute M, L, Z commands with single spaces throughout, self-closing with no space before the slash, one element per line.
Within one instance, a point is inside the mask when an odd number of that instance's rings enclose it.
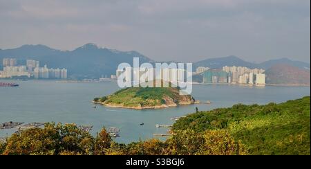
<path fill-rule="evenodd" d="M 290 66 L 299 67 L 300 69 L 310 70 L 310 64 L 300 61 L 289 60 L 288 58 L 281 58 L 278 60 L 268 60 L 259 64 L 246 62 L 234 55 L 227 57 L 211 58 L 194 63 L 194 68 L 198 66 L 206 66 L 209 68 L 221 68 L 223 66 L 246 66 L 249 68 L 270 69 L 275 64 L 288 64 Z"/>

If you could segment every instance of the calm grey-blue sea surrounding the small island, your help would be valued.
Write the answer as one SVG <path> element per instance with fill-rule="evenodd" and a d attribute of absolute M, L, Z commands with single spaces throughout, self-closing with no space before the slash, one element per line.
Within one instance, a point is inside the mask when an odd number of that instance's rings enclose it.
<path fill-rule="evenodd" d="M 105 127 L 119 127 L 120 138 L 116 141 L 129 143 L 139 139 L 151 139 L 154 133 L 167 129 L 156 124 L 171 125 L 170 118 L 199 110 L 231 107 L 237 103 L 266 104 L 310 96 L 310 87 L 243 87 L 237 85 L 195 84 L 192 96 L 210 105 L 189 105 L 168 109 L 133 110 L 103 107 L 94 109 L 91 100 L 117 91 L 116 82 L 64 83 L 49 80 L 14 81 L 19 87 L 0 87 L 0 123 L 61 122 L 77 125 L 93 125 L 92 134 Z M 144 125 L 140 125 L 144 123 Z M 0 137 L 15 130 L 0 130 Z"/>

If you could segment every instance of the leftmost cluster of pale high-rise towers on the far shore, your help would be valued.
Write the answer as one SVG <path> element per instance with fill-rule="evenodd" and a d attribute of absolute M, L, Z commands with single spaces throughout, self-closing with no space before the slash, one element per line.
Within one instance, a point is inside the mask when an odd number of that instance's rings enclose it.
<path fill-rule="evenodd" d="M 3 71 L 0 78 L 28 77 L 35 79 L 67 79 L 67 69 L 48 69 L 47 65 L 40 67 L 37 60 L 26 60 L 26 65 L 17 66 L 17 60 L 3 59 Z"/>

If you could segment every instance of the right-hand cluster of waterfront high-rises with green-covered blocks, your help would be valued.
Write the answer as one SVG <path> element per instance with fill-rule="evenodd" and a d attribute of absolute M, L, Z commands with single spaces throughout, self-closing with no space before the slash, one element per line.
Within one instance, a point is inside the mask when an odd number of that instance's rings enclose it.
<path fill-rule="evenodd" d="M 230 83 L 265 85 L 265 70 L 249 69 L 245 66 L 223 66 L 223 69 L 209 69 L 198 67 L 196 73 L 203 76 L 203 83 Z"/>

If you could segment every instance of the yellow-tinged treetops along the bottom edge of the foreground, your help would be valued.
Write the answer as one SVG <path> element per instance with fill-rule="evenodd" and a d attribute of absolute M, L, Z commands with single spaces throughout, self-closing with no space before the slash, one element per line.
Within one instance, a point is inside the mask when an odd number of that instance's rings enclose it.
<path fill-rule="evenodd" d="M 214 144 L 214 141 L 219 141 Z M 212 151 L 211 151 L 212 150 Z M 0 144 L 3 155 L 156 155 L 156 154 L 247 154 L 240 142 L 229 133 L 192 130 L 177 131 L 167 141 L 151 139 L 128 145 L 115 143 L 105 129 L 94 138 L 74 124 L 49 123 L 44 128 L 13 134 Z"/>

